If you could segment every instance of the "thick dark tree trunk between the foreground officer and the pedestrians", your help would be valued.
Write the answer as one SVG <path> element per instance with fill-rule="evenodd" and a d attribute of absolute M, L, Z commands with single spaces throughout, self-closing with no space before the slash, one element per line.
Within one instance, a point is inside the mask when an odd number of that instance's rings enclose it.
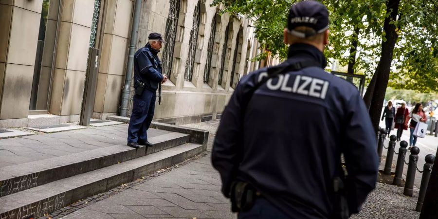
<path fill-rule="evenodd" d="M 383 108 L 383 100 L 385 98 L 386 87 L 388 86 L 390 67 L 392 57 L 394 55 L 394 46 L 399 37 L 396 32 L 396 26 L 391 21 L 397 20 L 400 0 L 386 1 L 386 13 L 389 17 L 385 18 L 383 30 L 386 33 L 386 41 L 382 41 L 382 56 L 380 57 L 379 67 L 376 70 L 376 84 L 372 94 L 371 106 L 369 115 L 374 127 L 374 130 L 379 128 L 380 115 Z"/>

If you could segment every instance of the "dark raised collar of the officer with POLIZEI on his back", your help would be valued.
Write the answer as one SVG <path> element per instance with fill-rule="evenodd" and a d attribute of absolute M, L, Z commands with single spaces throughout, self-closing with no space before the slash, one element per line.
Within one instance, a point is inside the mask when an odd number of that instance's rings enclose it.
<path fill-rule="evenodd" d="M 289 46 L 288 59 L 292 57 L 302 57 L 303 55 L 315 59 L 321 63 L 322 68 L 326 68 L 326 57 L 316 47 L 305 43 L 294 43 Z"/>

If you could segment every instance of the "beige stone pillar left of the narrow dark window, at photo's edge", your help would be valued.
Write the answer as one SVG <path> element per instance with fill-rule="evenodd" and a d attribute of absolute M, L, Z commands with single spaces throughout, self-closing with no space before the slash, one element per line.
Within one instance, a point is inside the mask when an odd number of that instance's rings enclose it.
<path fill-rule="evenodd" d="M 27 126 L 42 0 L 0 1 L 0 128 Z"/>

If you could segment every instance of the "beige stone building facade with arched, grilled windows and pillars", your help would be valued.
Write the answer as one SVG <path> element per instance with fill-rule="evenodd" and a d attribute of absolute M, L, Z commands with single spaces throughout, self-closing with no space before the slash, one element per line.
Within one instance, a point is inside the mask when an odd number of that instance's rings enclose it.
<path fill-rule="evenodd" d="M 142 0 L 136 50 L 150 32 L 168 42 L 154 119 L 220 116 L 239 78 L 257 69 L 252 20 L 212 0 Z M 77 122 L 89 48 L 100 50 L 93 117 L 118 115 L 135 0 L 0 0 L 0 128 Z M 132 89 L 129 113 L 132 109 Z"/>

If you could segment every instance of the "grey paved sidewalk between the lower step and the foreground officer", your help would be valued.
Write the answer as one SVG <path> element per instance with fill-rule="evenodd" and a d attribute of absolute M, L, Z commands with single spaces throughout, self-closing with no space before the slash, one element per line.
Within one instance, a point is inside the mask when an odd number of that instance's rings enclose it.
<path fill-rule="evenodd" d="M 208 150 L 213 139 L 211 135 Z M 236 218 L 230 211 L 230 202 L 220 192 L 219 173 L 211 166 L 210 159 L 210 153 L 207 153 L 201 159 L 61 218 Z"/>

